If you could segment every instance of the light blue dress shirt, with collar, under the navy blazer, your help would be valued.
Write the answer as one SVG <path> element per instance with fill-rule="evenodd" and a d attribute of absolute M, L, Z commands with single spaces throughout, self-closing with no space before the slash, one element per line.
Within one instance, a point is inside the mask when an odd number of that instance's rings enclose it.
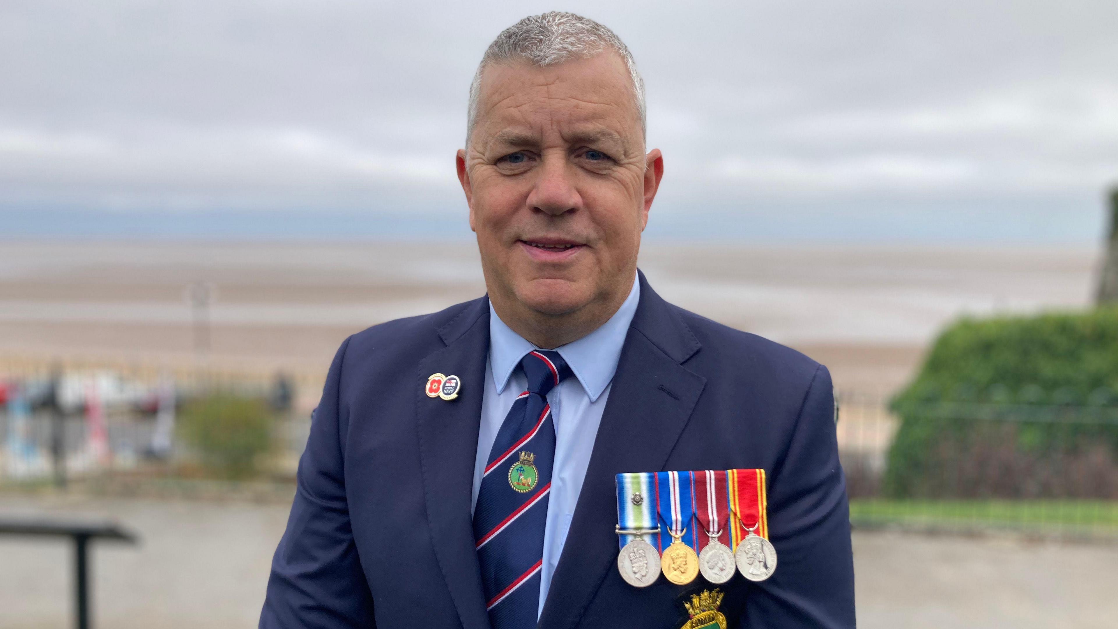
<path fill-rule="evenodd" d="M 586 468 L 601 423 L 601 411 L 609 397 L 609 385 L 617 370 L 622 346 L 628 334 L 641 289 L 633 279 L 633 289 L 617 312 L 600 328 L 585 337 L 557 347 L 574 378 L 567 378 L 548 394 L 551 417 L 556 426 L 556 457 L 551 470 L 551 495 L 548 498 L 548 520 L 543 533 L 543 566 L 540 581 L 540 609 L 548 598 L 551 575 L 555 574 L 570 518 L 575 515 L 578 494 L 582 490 Z M 482 487 L 485 462 L 489 460 L 496 432 L 504 422 L 517 395 L 524 391 L 528 379 L 517 369 L 520 359 L 533 349 L 540 349 L 512 331 L 490 304 L 490 353 L 485 365 L 485 394 L 482 398 L 482 423 L 477 433 L 477 458 L 474 461 L 473 505 Z"/>

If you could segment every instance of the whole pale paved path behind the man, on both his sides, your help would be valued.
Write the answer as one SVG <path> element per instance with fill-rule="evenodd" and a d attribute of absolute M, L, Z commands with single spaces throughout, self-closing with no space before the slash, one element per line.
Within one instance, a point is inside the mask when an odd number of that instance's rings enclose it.
<path fill-rule="evenodd" d="M 2 514 L 110 516 L 139 547 L 94 551 L 97 627 L 256 626 L 285 505 L 0 495 Z M 0 627 L 68 626 L 68 545 L 0 538 Z M 856 533 L 862 629 L 1102 629 L 1118 618 L 1118 546 Z"/>

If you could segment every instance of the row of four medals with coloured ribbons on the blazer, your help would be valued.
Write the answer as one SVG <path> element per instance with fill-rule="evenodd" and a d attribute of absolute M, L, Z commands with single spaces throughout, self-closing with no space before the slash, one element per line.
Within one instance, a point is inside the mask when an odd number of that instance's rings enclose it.
<path fill-rule="evenodd" d="M 736 571 L 764 581 L 776 570 L 766 507 L 760 469 L 619 473 L 617 570 L 637 588 L 661 573 L 678 585 Z"/>

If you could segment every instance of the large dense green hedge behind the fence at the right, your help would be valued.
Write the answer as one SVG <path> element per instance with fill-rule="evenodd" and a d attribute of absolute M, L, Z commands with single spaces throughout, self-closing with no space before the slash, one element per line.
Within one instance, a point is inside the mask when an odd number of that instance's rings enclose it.
<path fill-rule="evenodd" d="M 1118 309 L 964 319 L 892 403 L 893 497 L 1118 497 Z"/>

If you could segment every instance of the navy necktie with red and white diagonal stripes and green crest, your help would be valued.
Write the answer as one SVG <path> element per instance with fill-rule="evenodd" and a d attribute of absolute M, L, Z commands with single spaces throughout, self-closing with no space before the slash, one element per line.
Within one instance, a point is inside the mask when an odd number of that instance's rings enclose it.
<path fill-rule="evenodd" d="M 493 629 L 536 627 L 556 452 L 547 395 L 571 374 L 558 351 L 543 349 L 525 355 L 520 367 L 528 391 L 517 396 L 496 433 L 474 507 L 474 539 Z"/>

